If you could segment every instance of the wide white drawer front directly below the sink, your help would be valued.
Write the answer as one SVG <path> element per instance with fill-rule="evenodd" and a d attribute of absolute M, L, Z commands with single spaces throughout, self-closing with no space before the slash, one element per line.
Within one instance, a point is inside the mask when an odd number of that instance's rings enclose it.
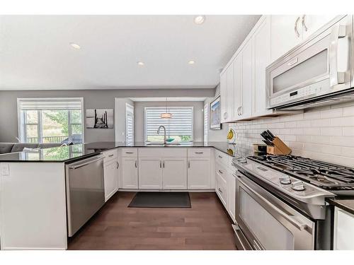
<path fill-rule="evenodd" d="M 142 147 L 139 148 L 139 158 L 159 157 L 159 158 L 186 158 L 187 148 L 181 147 Z"/>

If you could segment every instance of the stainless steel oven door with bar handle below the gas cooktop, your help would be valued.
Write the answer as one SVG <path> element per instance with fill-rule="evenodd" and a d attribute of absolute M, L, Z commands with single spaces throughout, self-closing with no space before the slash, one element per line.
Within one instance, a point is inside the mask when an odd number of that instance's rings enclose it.
<path fill-rule="evenodd" d="M 241 172 L 236 172 L 236 221 L 253 249 L 314 249 L 315 223 Z"/>

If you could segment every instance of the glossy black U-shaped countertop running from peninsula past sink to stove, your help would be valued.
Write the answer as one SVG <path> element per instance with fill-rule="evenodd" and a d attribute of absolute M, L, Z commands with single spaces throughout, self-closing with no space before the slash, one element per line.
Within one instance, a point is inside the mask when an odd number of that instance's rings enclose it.
<path fill-rule="evenodd" d="M 93 155 L 101 153 L 102 151 L 107 151 L 112 148 L 119 147 L 151 147 L 151 148 L 161 148 L 166 147 L 164 144 L 161 145 L 149 145 L 149 143 L 135 142 L 133 146 L 127 146 L 124 142 L 93 142 L 93 143 L 81 143 L 75 144 L 73 146 L 60 146 L 53 148 L 45 148 L 30 152 L 18 152 L 18 153 L 6 153 L 0 155 L 0 162 L 60 162 L 69 163 L 75 160 L 81 160 L 84 158 L 89 158 Z M 219 151 L 222 151 L 228 155 L 235 156 L 241 151 L 236 148 L 235 144 L 229 144 L 224 142 L 191 142 L 191 143 L 181 143 L 181 145 L 171 145 L 167 146 L 169 148 L 181 148 L 181 147 L 213 147 Z M 249 155 L 242 151 L 241 155 Z"/>

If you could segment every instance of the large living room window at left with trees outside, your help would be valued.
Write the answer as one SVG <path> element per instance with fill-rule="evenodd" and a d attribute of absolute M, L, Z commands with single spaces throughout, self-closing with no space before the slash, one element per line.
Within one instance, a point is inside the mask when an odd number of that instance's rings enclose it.
<path fill-rule="evenodd" d="M 82 98 L 18 98 L 22 143 L 82 143 Z"/>

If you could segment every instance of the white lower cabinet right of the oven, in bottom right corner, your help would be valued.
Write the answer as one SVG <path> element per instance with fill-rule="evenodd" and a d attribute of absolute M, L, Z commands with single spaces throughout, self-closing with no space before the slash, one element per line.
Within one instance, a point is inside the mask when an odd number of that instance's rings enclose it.
<path fill-rule="evenodd" d="M 333 249 L 354 250 L 354 215 L 335 207 Z"/>

